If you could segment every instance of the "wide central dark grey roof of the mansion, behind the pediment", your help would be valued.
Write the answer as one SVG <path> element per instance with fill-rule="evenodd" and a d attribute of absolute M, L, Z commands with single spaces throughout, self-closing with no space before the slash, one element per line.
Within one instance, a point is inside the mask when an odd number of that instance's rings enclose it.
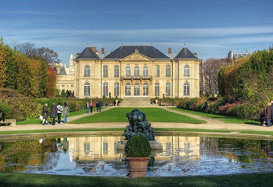
<path fill-rule="evenodd" d="M 170 59 L 168 56 L 157 50 L 154 46 L 142 45 L 120 46 L 115 51 L 105 56 L 103 59 L 122 59 L 126 56 L 134 54 L 136 49 L 138 50 L 138 53 L 152 59 Z"/>

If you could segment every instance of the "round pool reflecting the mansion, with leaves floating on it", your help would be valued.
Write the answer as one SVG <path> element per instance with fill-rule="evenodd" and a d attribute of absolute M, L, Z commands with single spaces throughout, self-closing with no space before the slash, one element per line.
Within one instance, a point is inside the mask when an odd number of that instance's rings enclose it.
<path fill-rule="evenodd" d="M 121 136 L 60 137 L 0 142 L 0 171 L 126 176 Z M 273 171 L 273 141 L 216 137 L 156 136 L 147 176 L 194 176 Z"/>

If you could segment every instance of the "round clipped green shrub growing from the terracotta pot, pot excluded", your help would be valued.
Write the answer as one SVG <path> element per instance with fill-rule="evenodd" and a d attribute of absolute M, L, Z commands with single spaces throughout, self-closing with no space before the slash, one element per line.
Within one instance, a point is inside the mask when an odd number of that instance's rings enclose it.
<path fill-rule="evenodd" d="M 148 139 L 142 135 L 132 136 L 125 145 L 126 157 L 149 157 L 151 150 Z"/>

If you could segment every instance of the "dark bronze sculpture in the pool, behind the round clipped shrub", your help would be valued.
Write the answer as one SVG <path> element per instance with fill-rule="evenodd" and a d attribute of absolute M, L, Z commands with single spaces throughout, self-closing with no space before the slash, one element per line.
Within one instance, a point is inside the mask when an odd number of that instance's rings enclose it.
<path fill-rule="evenodd" d="M 126 117 L 129 120 L 129 125 L 122 134 L 126 140 L 129 140 L 136 134 L 145 136 L 149 141 L 156 140 L 154 129 L 151 127 L 151 123 L 148 122 L 145 113 L 135 109 L 132 112 L 128 112 Z"/>

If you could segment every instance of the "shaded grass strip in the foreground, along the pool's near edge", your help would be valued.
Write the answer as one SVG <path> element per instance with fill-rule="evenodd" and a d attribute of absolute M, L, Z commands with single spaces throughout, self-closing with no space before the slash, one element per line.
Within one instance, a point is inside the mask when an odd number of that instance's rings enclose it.
<path fill-rule="evenodd" d="M 82 177 L 0 172 L 0 187 L 272 187 L 273 173 L 195 177 Z"/>

